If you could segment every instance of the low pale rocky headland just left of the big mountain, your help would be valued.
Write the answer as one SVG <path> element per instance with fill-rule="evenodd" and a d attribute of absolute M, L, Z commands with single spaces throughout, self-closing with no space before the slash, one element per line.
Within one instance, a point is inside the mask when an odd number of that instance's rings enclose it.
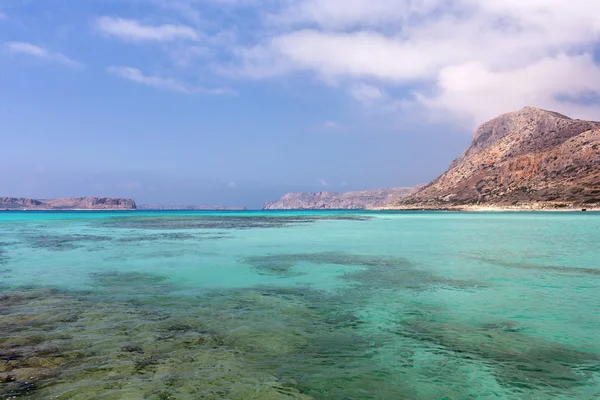
<path fill-rule="evenodd" d="M 288 193 L 265 203 L 265 210 L 361 210 L 380 207 L 416 192 L 414 188 L 374 189 L 362 192 Z"/>

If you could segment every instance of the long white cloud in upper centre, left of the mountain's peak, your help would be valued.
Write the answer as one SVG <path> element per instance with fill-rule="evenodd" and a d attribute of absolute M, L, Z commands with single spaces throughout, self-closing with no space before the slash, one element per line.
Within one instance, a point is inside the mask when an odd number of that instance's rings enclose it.
<path fill-rule="evenodd" d="M 437 50 L 452 53 L 442 46 Z M 240 55 L 245 63 L 241 73 L 253 77 L 309 70 L 326 80 L 368 77 L 394 82 L 432 77 L 436 67 L 444 65 L 442 60 L 432 62 L 431 56 L 413 45 L 376 32 L 302 30 L 280 35 L 267 46 Z"/>

